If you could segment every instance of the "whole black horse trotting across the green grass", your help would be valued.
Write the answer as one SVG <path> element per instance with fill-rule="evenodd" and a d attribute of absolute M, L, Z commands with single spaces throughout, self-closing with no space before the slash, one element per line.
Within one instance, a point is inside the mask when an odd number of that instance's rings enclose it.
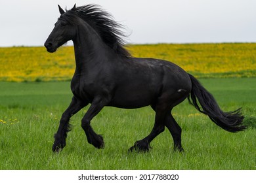
<path fill-rule="evenodd" d="M 104 141 L 93 131 L 90 123 L 105 106 L 139 108 L 150 105 L 156 112 L 151 133 L 135 142 L 130 151 L 149 150 L 150 142 L 165 127 L 171 132 L 175 150 L 182 151 L 181 127 L 171 115 L 171 110 L 186 98 L 226 131 L 245 129 L 240 108 L 223 112 L 211 93 L 181 67 L 160 59 L 133 58 L 123 47 L 120 24 L 97 5 L 74 6 L 66 12 L 58 7 L 61 15 L 45 47 L 48 52 L 55 52 L 59 46 L 72 40 L 76 68 L 71 82 L 74 96 L 54 135 L 54 152 L 66 146 L 71 116 L 89 103 L 91 107 L 81 126 L 87 141 L 96 148 L 104 148 Z"/>

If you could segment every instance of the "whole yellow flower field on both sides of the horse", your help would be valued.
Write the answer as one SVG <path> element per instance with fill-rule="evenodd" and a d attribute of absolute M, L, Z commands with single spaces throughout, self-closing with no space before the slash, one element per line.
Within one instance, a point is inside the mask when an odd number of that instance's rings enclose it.
<path fill-rule="evenodd" d="M 256 44 L 129 45 L 132 55 L 166 59 L 197 77 L 255 77 Z M 0 81 L 70 80 L 75 69 L 74 48 L 54 54 L 43 47 L 0 48 Z"/>

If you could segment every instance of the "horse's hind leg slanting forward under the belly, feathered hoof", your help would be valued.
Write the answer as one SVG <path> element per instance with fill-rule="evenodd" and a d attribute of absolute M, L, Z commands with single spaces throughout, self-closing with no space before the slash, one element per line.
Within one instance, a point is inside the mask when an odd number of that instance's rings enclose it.
<path fill-rule="evenodd" d="M 152 107 L 154 108 L 154 107 Z M 151 131 L 151 133 L 145 137 L 144 139 L 135 142 L 134 146 L 129 148 L 129 151 L 132 152 L 133 150 L 146 152 L 150 149 L 150 142 L 153 141 L 154 138 L 156 138 L 161 132 L 165 129 L 165 116 L 167 110 L 163 110 L 161 107 L 154 108 L 156 111 L 156 117 L 155 117 L 155 124 Z"/>

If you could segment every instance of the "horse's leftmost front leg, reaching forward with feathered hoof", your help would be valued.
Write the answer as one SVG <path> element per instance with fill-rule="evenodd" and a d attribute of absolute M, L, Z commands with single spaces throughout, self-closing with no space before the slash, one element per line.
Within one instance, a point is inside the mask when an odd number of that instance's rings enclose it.
<path fill-rule="evenodd" d="M 70 118 L 86 105 L 88 105 L 88 103 L 80 101 L 75 96 L 72 98 L 70 106 L 62 114 L 58 131 L 54 135 L 55 141 L 53 143 L 53 152 L 59 152 L 64 148 L 64 146 L 66 146 L 67 133 L 70 131 Z"/>

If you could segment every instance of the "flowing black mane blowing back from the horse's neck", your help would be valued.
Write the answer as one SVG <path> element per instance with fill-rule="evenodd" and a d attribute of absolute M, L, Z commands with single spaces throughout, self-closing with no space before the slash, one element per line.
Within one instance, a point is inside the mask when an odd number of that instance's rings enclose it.
<path fill-rule="evenodd" d="M 66 13 L 60 16 L 60 19 L 64 19 L 70 24 L 77 24 L 75 16 L 79 16 L 87 24 L 91 25 L 100 35 L 102 41 L 114 49 L 117 54 L 131 57 L 131 54 L 123 47 L 125 41 L 121 37 L 125 37 L 125 35 L 119 30 L 123 26 L 114 21 L 111 14 L 102 10 L 98 5 L 86 5 L 67 10 Z"/>

